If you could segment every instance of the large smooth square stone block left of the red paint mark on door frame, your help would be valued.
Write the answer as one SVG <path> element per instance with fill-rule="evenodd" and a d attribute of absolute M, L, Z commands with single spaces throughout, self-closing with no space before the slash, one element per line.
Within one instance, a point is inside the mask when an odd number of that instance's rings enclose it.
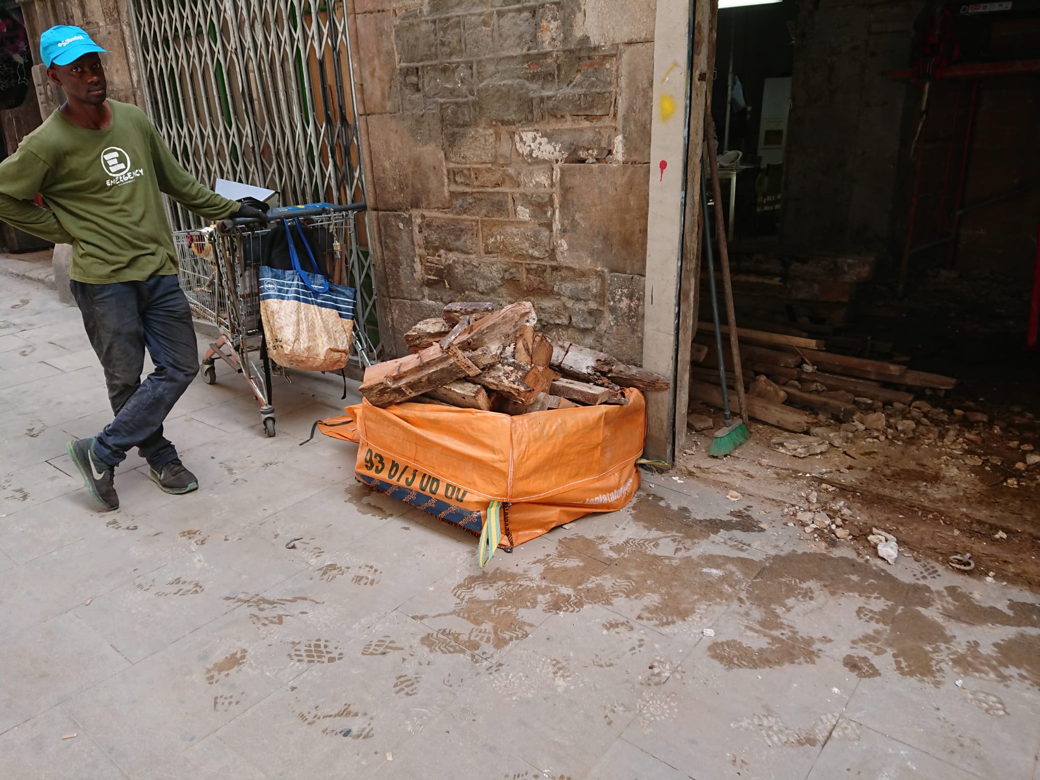
<path fill-rule="evenodd" d="M 649 187 L 647 165 L 561 165 L 560 263 L 644 274 Z"/>

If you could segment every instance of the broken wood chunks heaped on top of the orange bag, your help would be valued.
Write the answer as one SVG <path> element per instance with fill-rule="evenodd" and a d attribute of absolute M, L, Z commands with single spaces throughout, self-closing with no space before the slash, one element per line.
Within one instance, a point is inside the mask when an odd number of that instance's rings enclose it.
<path fill-rule="evenodd" d="M 622 388 L 669 389 L 653 371 L 536 332 L 529 302 L 498 309 L 454 303 L 405 334 L 410 355 L 365 370 L 361 394 L 376 407 L 406 400 L 528 414 L 628 402 Z"/>

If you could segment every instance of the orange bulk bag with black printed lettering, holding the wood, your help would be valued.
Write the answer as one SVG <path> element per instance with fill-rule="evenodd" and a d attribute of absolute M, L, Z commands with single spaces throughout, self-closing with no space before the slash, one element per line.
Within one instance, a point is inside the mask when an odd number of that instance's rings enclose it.
<path fill-rule="evenodd" d="M 490 558 L 496 545 L 512 549 L 631 500 L 640 487 L 646 402 L 639 390 L 624 392 L 627 406 L 517 416 L 433 404 L 380 409 L 363 400 L 318 428 L 359 444 L 360 482 L 483 534 L 482 541 L 491 540 Z M 482 565 L 484 557 L 482 550 Z"/>

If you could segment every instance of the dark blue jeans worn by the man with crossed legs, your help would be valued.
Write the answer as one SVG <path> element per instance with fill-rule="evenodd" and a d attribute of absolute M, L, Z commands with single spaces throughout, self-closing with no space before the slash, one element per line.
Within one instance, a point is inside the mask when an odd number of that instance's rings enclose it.
<path fill-rule="evenodd" d="M 138 447 L 158 470 L 177 458 L 162 421 L 199 372 L 191 310 L 176 276 L 147 282 L 72 283 L 83 327 L 105 369 L 115 419 L 98 434 L 94 453 L 116 466 Z M 145 349 L 155 371 L 144 382 Z"/>

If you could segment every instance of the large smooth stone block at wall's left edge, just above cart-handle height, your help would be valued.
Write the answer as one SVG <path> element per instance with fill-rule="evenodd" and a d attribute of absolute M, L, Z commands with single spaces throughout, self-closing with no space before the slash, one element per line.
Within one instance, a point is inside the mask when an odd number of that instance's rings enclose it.
<path fill-rule="evenodd" d="M 365 129 L 372 208 L 402 211 L 450 205 L 439 113 L 373 114 L 365 118 Z"/>

